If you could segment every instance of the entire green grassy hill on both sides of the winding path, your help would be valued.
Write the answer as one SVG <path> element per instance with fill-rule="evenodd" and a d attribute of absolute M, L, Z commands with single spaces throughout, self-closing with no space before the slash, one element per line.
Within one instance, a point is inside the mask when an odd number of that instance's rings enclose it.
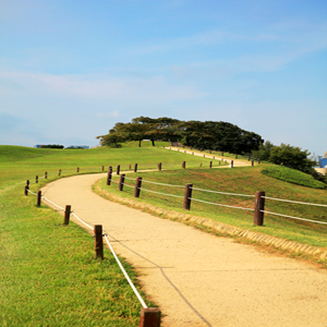
<path fill-rule="evenodd" d="M 186 169 L 181 169 L 182 161 Z M 102 166 L 137 172 L 129 178 L 142 175 L 144 181 L 184 185 L 193 183 L 197 189 L 227 193 L 252 194 L 266 191 L 267 196 L 327 204 L 327 190 L 316 190 L 280 181 L 261 173 L 268 166 L 234 169 L 208 169 L 211 159 L 190 156 L 152 147 L 149 142 L 124 144 L 122 148 L 93 149 L 36 149 L 20 146 L 0 146 L 0 301 L 3 326 L 135 326 L 140 316 L 140 303 L 122 277 L 112 256 L 106 252 L 105 261 L 94 259 L 93 239 L 80 227 L 62 226 L 62 217 L 46 206 L 37 208 L 34 196 L 24 196 L 26 180 L 35 175 L 40 180 L 32 185 L 36 192 L 47 181 L 76 173 L 100 172 Z M 157 165 L 162 162 L 162 170 Z M 199 168 L 202 164 L 202 168 Z M 114 177 L 117 179 L 117 177 Z M 134 184 L 131 181 L 131 184 Z M 144 182 L 148 190 L 183 195 L 183 190 Z M 130 189 L 117 191 L 116 186 L 101 187 L 120 196 L 132 197 Z M 181 194 L 180 194 L 181 193 Z M 193 198 L 253 208 L 253 198 L 241 198 L 225 194 L 203 193 L 194 190 Z M 182 198 L 165 197 L 142 191 L 140 202 L 162 208 L 184 211 Z M 268 201 L 266 210 L 290 216 L 326 221 L 326 208 L 300 206 Z M 266 215 L 265 226 L 253 226 L 253 213 L 192 202 L 191 214 L 267 234 L 289 238 L 299 242 L 327 247 L 327 229 L 310 222 L 301 222 Z M 137 283 L 133 268 L 124 266 Z M 146 298 L 146 296 L 145 296 Z M 149 305 L 152 303 L 146 300 Z"/>

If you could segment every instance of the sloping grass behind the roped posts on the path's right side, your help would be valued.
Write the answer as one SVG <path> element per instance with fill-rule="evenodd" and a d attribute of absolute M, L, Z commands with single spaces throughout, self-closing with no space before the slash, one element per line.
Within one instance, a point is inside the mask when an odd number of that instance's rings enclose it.
<path fill-rule="evenodd" d="M 269 197 L 327 205 L 326 190 L 313 190 L 271 179 L 262 174 L 261 170 L 261 167 L 244 167 L 234 169 L 186 169 L 161 172 L 140 172 L 126 174 L 126 177 L 129 179 L 142 177 L 144 180 L 142 187 L 179 196 L 183 196 L 183 187 L 155 185 L 146 183 L 145 181 L 155 181 L 181 186 L 184 186 L 185 183 L 192 183 L 196 189 L 253 195 L 253 197 L 241 197 L 193 190 L 193 198 L 211 203 L 221 203 L 230 206 L 245 207 L 249 208 L 249 210 L 227 208 L 192 201 L 191 210 L 187 213 L 194 216 L 207 217 L 235 227 L 259 231 L 274 237 L 284 238 L 287 240 L 314 246 L 327 247 L 326 225 L 305 222 L 267 214 L 265 215 L 264 227 L 253 225 L 253 210 L 251 209 L 254 208 L 254 195 L 256 191 L 265 191 L 266 196 Z M 116 174 L 113 174 L 113 180 L 118 181 L 118 177 Z M 135 182 L 131 180 L 125 180 L 125 183 L 132 186 L 135 184 Z M 124 191 L 120 192 L 114 183 L 107 186 L 105 179 L 100 182 L 100 189 L 107 190 L 110 193 L 122 197 L 135 199 L 133 197 L 133 189 L 124 187 Z M 183 209 L 182 197 L 164 196 L 161 194 L 141 191 L 141 198 L 136 201 L 149 203 L 157 207 L 178 213 L 185 213 Z M 313 207 L 310 205 L 266 199 L 265 210 L 327 222 L 326 207 Z"/>

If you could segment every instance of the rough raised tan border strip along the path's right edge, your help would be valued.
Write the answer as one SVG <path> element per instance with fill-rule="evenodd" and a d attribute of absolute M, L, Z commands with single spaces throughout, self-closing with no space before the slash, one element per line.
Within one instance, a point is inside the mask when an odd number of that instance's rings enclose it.
<path fill-rule="evenodd" d="M 93 192 L 110 199 L 112 202 L 149 213 L 164 219 L 180 221 L 189 226 L 202 229 L 207 232 L 213 232 L 223 237 L 232 237 L 240 242 L 251 243 L 254 245 L 268 246 L 269 251 L 277 251 L 283 255 L 311 261 L 327 268 L 327 251 L 326 249 L 312 246 L 286 239 L 271 237 L 268 234 L 254 232 L 247 229 L 233 227 L 227 223 L 214 221 L 209 218 L 193 216 L 189 214 L 181 214 L 156 207 L 150 204 L 140 203 L 131 198 L 121 197 L 112 194 L 99 186 L 100 180 L 93 185 Z"/>

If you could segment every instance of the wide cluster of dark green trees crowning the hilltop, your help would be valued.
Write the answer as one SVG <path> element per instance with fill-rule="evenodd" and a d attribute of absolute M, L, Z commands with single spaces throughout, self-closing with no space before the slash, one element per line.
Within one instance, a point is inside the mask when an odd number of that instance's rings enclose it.
<path fill-rule="evenodd" d="M 153 146 L 157 140 L 179 142 L 195 148 L 250 155 L 264 143 L 261 135 L 240 129 L 228 122 L 181 121 L 172 118 L 134 118 L 132 122 L 118 122 L 109 134 L 99 135 L 101 145 L 119 147 L 125 141 L 150 140 Z"/>

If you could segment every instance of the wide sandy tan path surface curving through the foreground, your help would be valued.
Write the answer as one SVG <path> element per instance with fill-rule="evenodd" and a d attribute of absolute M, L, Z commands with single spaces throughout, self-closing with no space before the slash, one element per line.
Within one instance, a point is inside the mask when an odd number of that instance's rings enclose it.
<path fill-rule="evenodd" d="M 111 203 L 92 192 L 105 175 L 61 179 L 43 194 L 102 225 L 114 251 L 141 272 L 161 326 L 327 327 L 326 270 Z"/>

